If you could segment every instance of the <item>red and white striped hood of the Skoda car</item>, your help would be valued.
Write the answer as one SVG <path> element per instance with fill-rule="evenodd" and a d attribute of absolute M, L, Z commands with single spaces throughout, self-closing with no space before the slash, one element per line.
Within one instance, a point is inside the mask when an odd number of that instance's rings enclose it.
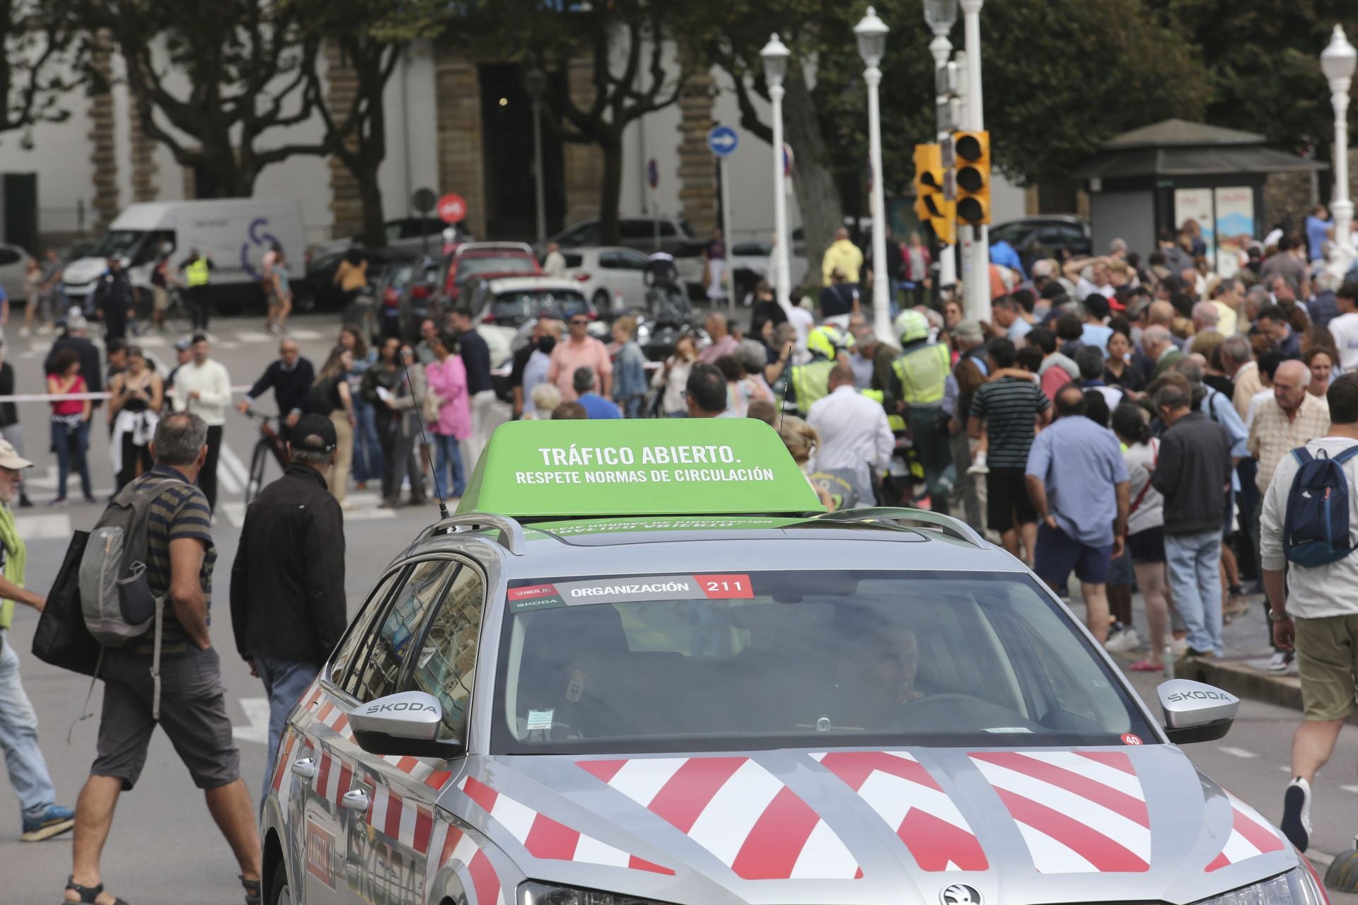
<path fill-rule="evenodd" d="M 471 757 L 440 805 L 524 877 L 674 902 L 1188 902 L 1297 864 L 1169 745 Z"/>

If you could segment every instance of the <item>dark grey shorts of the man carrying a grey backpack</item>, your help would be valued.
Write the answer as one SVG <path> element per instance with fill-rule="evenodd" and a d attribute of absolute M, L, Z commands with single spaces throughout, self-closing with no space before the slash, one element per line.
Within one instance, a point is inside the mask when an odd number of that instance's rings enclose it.
<path fill-rule="evenodd" d="M 129 791 L 147 765 L 156 722 L 151 718 L 151 658 L 106 650 L 103 712 L 91 776 L 113 776 Z M 160 727 L 198 788 L 220 788 L 240 777 L 240 749 L 231 737 L 227 689 L 217 650 L 189 649 L 160 658 Z"/>

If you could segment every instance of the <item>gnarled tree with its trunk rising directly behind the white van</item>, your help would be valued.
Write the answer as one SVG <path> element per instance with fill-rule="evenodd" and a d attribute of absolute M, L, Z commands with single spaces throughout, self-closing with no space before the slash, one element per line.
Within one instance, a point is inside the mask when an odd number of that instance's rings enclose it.
<path fill-rule="evenodd" d="M 196 175 L 200 198 L 243 197 L 269 164 L 325 153 L 323 142 L 269 145 L 265 133 L 308 121 L 319 37 L 274 0 L 64 0 L 126 64 L 144 132 Z M 185 88 L 179 88 L 186 83 Z"/>

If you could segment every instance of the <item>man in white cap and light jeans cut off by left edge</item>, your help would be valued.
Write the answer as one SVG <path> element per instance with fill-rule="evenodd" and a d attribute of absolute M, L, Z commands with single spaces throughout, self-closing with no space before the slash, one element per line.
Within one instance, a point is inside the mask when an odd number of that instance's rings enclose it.
<path fill-rule="evenodd" d="M 20 456 L 7 440 L 0 440 L 0 708 L 11 719 L 0 722 L 4 734 L 4 749 L 8 752 L 5 767 L 10 771 L 10 786 L 19 794 L 23 807 L 23 841 L 34 843 L 65 833 L 75 826 L 75 813 L 56 803 L 56 790 L 48 763 L 38 748 L 38 720 L 29 696 L 19 680 L 19 657 L 14 647 L 5 643 L 10 621 L 14 619 L 15 601 L 33 606 L 38 612 L 46 605 L 46 598 L 23 586 L 27 548 L 15 526 L 10 506 L 19 498 L 19 474 L 30 468 L 31 461 Z"/>

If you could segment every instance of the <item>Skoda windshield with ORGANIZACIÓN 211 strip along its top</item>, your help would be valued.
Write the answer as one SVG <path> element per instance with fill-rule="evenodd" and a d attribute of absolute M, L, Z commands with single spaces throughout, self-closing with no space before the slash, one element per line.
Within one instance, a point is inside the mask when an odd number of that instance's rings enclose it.
<path fill-rule="evenodd" d="M 496 753 L 1154 741 L 1021 574 L 553 577 L 505 619 Z"/>

